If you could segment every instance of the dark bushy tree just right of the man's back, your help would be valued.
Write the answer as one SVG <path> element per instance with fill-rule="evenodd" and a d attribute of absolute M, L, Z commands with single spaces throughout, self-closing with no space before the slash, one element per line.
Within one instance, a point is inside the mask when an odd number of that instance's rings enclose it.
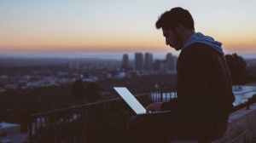
<path fill-rule="evenodd" d="M 247 62 L 236 53 L 226 54 L 225 59 L 227 60 L 228 66 L 230 68 L 230 75 L 233 85 L 244 85 L 246 83 L 247 77 Z"/>

